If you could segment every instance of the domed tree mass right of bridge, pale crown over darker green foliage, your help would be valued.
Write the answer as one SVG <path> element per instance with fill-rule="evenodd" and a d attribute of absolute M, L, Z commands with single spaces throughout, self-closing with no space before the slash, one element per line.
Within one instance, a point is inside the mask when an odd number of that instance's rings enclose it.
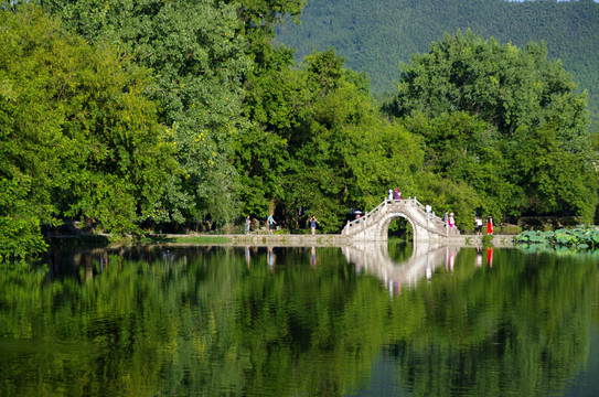
<path fill-rule="evenodd" d="M 425 137 L 429 170 L 475 192 L 462 216 L 478 207 L 498 218 L 592 221 L 597 175 L 586 94 L 577 94 L 559 62 L 547 61 L 544 46 L 446 34 L 404 65 L 387 111 Z"/>

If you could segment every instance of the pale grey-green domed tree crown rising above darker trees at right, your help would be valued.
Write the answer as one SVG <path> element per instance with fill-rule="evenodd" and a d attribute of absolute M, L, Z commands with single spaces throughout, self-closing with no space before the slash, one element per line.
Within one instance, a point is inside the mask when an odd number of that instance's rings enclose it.
<path fill-rule="evenodd" d="M 467 111 L 492 124 L 504 137 L 522 126 L 561 116 L 563 141 L 582 150 L 588 136 L 586 94 L 559 62 L 547 61 L 545 45 L 524 50 L 483 40 L 470 30 L 446 33 L 404 65 L 398 93 L 389 107 L 397 115 L 419 110 L 428 116 Z M 573 140 L 574 139 L 574 140 Z"/>

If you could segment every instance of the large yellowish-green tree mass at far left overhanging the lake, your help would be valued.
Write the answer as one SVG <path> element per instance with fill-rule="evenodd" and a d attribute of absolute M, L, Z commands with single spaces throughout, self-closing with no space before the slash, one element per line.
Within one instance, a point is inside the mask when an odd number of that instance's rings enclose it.
<path fill-rule="evenodd" d="M 173 167 L 147 72 L 33 7 L 0 25 L 0 256 L 43 249 L 64 216 L 135 230 Z"/>

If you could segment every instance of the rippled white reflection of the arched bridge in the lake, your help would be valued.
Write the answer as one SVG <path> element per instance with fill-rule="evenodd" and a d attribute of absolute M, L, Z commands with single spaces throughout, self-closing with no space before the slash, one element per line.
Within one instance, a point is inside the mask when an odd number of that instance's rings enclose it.
<path fill-rule="evenodd" d="M 342 250 L 359 272 L 376 276 L 391 292 L 398 293 L 402 288 L 414 288 L 420 280 L 430 279 L 439 266 L 452 270 L 460 247 L 415 244 L 411 257 L 403 262 L 396 262 L 389 257 L 387 243 L 352 244 Z"/>

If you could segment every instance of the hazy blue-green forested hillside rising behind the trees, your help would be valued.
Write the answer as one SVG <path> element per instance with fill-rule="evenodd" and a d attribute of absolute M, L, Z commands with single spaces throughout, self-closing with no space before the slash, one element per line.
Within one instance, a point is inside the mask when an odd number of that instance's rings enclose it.
<path fill-rule="evenodd" d="M 308 0 L 300 19 L 279 26 L 277 40 L 297 49 L 298 61 L 334 47 L 371 77 L 373 94 L 393 92 L 399 63 L 428 52 L 443 32 L 471 29 L 520 47 L 544 41 L 549 58 L 589 90 L 591 118 L 599 118 L 599 3 L 590 0 Z"/>

